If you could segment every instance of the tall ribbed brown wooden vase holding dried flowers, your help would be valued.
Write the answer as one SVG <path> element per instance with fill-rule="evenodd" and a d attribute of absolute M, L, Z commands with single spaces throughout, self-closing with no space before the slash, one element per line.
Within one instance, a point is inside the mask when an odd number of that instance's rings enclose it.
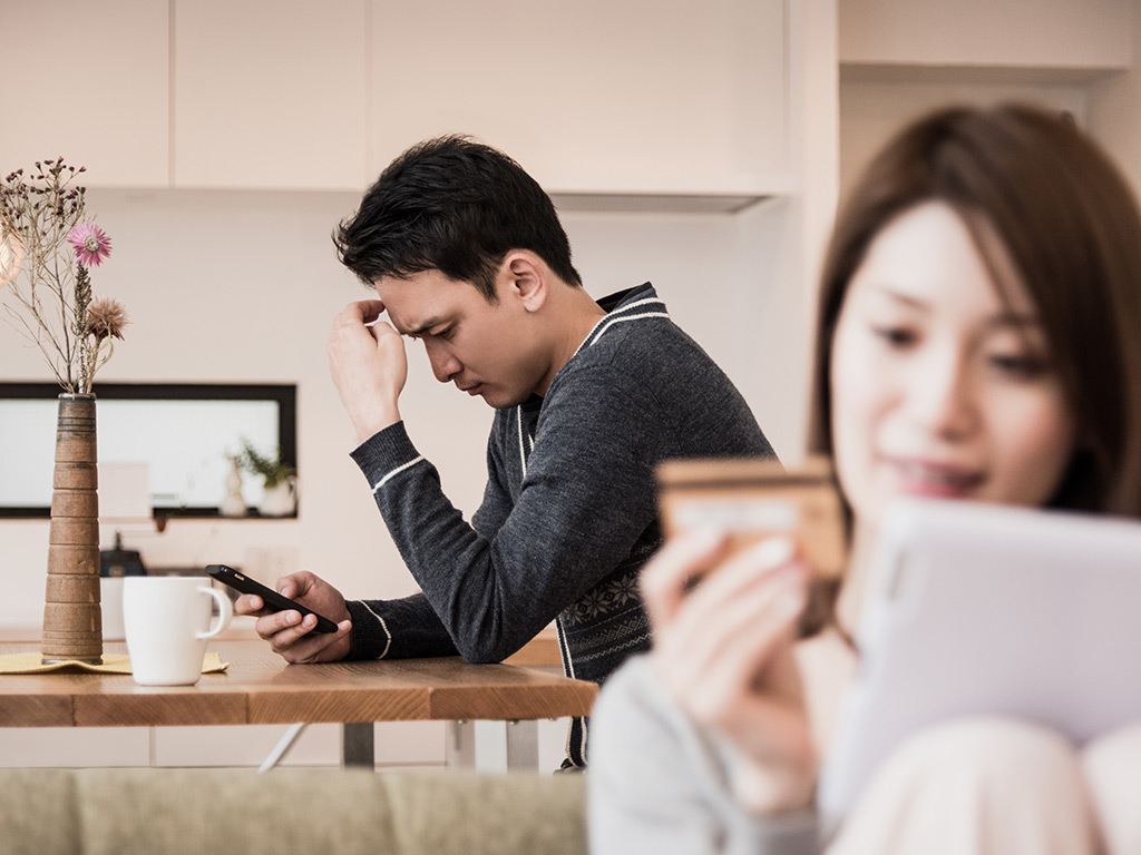
<path fill-rule="evenodd" d="M 103 661 L 95 396 L 59 396 L 43 600 L 44 663 Z"/>

